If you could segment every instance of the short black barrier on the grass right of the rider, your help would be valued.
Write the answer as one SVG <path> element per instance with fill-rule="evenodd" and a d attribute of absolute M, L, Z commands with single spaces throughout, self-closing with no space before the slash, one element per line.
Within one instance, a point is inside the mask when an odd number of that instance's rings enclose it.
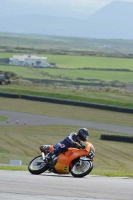
<path fill-rule="evenodd" d="M 120 135 L 101 135 L 101 140 L 133 143 L 133 137 Z"/>

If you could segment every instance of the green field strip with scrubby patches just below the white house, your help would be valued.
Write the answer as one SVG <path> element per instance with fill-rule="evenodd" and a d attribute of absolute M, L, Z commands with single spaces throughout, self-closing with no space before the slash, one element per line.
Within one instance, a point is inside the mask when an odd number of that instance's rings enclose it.
<path fill-rule="evenodd" d="M 12 71 L 23 78 L 49 79 L 49 80 L 72 80 L 78 79 L 97 80 L 97 81 L 120 81 L 130 83 L 133 81 L 133 72 L 116 72 L 116 71 L 97 71 L 97 70 L 69 70 L 69 69 L 42 69 L 21 66 L 2 66 L 2 71 Z"/>

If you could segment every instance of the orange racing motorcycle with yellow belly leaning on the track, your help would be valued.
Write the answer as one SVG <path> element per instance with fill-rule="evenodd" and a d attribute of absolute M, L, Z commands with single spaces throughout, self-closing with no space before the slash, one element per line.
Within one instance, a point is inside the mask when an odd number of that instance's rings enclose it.
<path fill-rule="evenodd" d="M 41 155 L 35 157 L 28 165 L 31 174 L 39 175 L 44 172 L 55 174 L 71 174 L 73 177 L 84 177 L 93 169 L 95 148 L 90 142 L 85 142 L 79 148 L 68 148 L 59 155 L 53 155 L 47 161 L 47 153 L 54 150 L 53 145 L 39 147 Z"/>

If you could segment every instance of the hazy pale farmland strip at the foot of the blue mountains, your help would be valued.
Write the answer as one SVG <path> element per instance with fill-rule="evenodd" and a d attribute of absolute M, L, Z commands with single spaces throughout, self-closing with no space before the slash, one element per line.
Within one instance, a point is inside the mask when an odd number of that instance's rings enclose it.
<path fill-rule="evenodd" d="M 108 45 L 110 48 L 105 48 Z M 91 51 L 113 53 L 120 56 L 133 52 L 132 40 L 116 40 L 116 39 L 93 39 L 93 38 L 76 38 L 76 37 L 58 37 L 43 35 L 25 35 L 0 33 L 1 51 L 7 47 L 9 50 L 13 48 L 31 48 L 31 49 L 55 49 L 56 51 Z M 103 54 L 104 54 L 103 53 Z"/>

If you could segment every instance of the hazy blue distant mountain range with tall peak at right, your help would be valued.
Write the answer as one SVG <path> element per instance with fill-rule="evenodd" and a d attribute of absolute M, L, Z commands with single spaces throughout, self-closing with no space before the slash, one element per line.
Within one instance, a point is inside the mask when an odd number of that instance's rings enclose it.
<path fill-rule="evenodd" d="M 0 14 L 0 32 L 133 39 L 133 3 L 114 1 L 86 20 L 37 14 Z"/>

